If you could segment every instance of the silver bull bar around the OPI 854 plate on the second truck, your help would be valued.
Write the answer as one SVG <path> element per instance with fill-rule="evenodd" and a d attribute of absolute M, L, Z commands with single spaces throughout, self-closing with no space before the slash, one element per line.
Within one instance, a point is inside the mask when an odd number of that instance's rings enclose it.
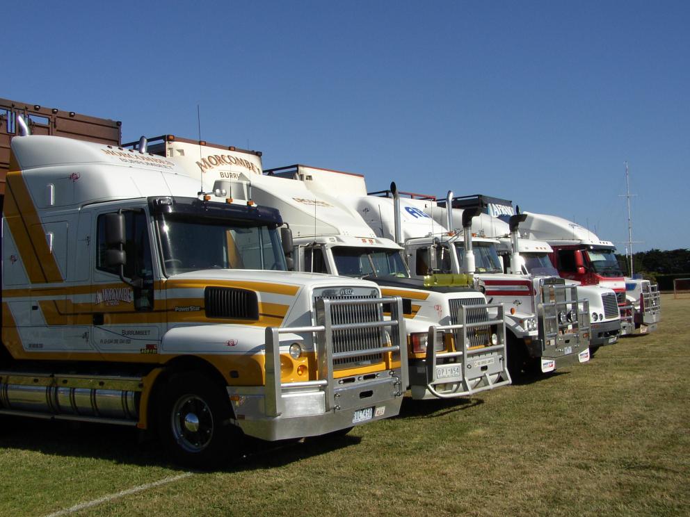
<path fill-rule="evenodd" d="M 496 310 L 496 317 L 490 317 L 486 321 L 468 322 L 467 311 L 469 309 L 492 309 Z M 504 318 L 502 304 L 481 304 L 481 305 L 461 305 L 458 306 L 458 323 L 456 325 L 431 325 L 428 330 L 428 338 L 426 340 L 426 379 L 428 384 L 426 388 L 435 397 L 442 399 L 464 397 L 479 393 L 480 391 L 490 390 L 499 386 L 511 384 L 511 375 L 508 373 L 508 361 L 506 358 L 506 321 Z M 495 329 L 493 334 L 497 336 L 496 345 L 486 345 L 483 347 L 472 346 L 472 338 L 470 332 L 473 329 L 486 327 L 488 329 L 488 342 L 490 343 L 492 329 Z M 455 334 L 455 351 L 454 352 L 437 352 L 435 350 L 435 343 L 440 332 L 453 331 Z M 458 345 L 460 345 L 458 347 Z M 459 350 L 458 350 L 459 348 Z M 486 356 L 486 359 L 480 356 Z M 459 358 L 454 363 L 440 363 L 443 359 Z M 472 369 L 472 361 L 476 359 L 479 375 L 474 375 Z M 491 361 L 488 365 L 482 365 Z M 440 368 L 454 368 L 458 367 L 456 375 L 452 377 L 439 378 L 438 372 Z M 468 374 L 468 372 L 470 372 Z M 499 381 L 492 381 L 491 376 L 497 375 Z M 450 393 L 441 393 L 435 386 L 438 384 L 455 384 L 456 388 Z"/>

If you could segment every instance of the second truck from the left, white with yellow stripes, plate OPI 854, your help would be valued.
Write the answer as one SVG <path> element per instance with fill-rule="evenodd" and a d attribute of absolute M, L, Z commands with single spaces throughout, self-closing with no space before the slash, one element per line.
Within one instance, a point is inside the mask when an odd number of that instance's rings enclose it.
<path fill-rule="evenodd" d="M 211 163 L 211 156 L 220 152 L 216 147 L 195 149 L 169 138 L 164 145 L 168 156 L 201 157 L 204 177 L 223 181 L 233 199 L 278 208 L 291 230 L 289 261 L 294 269 L 364 278 L 376 282 L 383 295 L 402 297 L 413 398 L 465 397 L 510 383 L 502 309 L 486 306 L 486 298 L 466 283 L 424 286 L 410 279 L 401 247 L 376 238 L 339 197 L 308 188 L 313 177 L 326 170 L 295 166 L 262 174 L 257 164 L 229 177 L 222 160 Z M 329 173 L 331 181 L 357 181 L 353 175 Z"/>

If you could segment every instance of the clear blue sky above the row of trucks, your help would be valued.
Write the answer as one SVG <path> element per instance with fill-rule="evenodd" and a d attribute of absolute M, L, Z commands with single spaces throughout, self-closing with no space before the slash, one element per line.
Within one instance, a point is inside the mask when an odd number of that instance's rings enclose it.
<path fill-rule="evenodd" d="M 5 1 L 0 97 L 690 247 L 689 1 Z"/>

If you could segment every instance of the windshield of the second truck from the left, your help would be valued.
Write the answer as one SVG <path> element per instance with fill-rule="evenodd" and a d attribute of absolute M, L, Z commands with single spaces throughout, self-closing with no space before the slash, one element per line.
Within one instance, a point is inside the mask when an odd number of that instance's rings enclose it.
<path fill-rule="evenodd" d="M 342 277 L 410 277 L 399 249 L 337 246 L 332 253 Z"/>

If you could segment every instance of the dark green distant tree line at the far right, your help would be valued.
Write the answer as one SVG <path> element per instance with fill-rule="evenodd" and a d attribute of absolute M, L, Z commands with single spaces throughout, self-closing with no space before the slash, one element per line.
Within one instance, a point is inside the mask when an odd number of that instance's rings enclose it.
<path fill-rule="evenodd" d="M 630 274 L 630 264 L 625 255 L 616 254 L 620 269 Z M 673 290 L 674 278 L 690 278 L 690 249 L 650 249 L 632 255 L 635 274 L 657 281 L 660 290 Z"/>

